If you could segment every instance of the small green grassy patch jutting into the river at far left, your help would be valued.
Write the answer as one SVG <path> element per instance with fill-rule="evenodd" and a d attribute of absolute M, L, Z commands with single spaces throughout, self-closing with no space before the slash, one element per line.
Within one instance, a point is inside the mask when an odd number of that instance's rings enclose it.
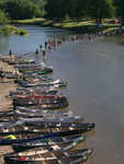
<path fill-rule="evenodd" d="M 0 28 L 0 35 L 29 35 L 29 32 L 24 28 L 18 28 L 15 26 L 5 25 Z"/>

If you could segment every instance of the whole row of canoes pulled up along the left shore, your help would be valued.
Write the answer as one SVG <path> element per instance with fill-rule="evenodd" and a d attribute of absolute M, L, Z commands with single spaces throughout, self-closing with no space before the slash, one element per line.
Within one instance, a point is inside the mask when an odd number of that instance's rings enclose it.
<path fill-rule="evenodd" d="M 78 164 L 86 162 L 92 149 L 76 149 L 84 141 L 94 122 L 83 122 L 83 117 L 68 110 L 68 99 L 60 89 L 68 82 L 48 75 L 53 68 L 37 65 L 23 57 L 13 65 L 22 75 L 15 78 L 20 85 L 10 91 L 13 109 L 0 112 L 0 145 L 11 145 L 13 153 L 4 155 L 5 164 Z M 50 71 L 49 71 L 50 70 Z"/>

